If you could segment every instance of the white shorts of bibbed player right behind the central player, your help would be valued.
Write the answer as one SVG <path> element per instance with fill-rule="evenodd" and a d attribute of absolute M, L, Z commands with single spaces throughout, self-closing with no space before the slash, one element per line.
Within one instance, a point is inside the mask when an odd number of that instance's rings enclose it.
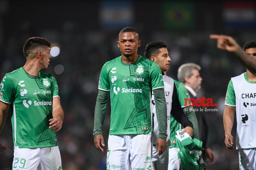
<path fill-rule="evenodd" d="M 158 156 L 158 149 L 153 145 L 152 150 L 152 170 L 167 170 L 169 161 L 169 149 L 165 149 L 162 155 Z"/>

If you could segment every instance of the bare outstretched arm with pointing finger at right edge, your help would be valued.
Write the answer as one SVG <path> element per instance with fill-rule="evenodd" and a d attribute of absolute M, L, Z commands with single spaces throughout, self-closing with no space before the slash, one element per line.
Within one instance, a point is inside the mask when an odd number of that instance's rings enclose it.
<path fill-rule="evenodd" d="M 234 38 L 228 35 L 218 34 L 211 34 L 210 38 L 217 40 L 217 48 L 233 52 L 247 68 L 252 72 L 256 72 L 256 59 L 245 53 Z"/>

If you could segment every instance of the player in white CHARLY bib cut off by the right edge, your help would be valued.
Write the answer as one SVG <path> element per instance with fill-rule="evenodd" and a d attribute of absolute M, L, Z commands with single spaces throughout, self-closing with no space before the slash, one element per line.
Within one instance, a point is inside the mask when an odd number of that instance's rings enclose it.
<path fill-rule="evenodd" d="M 244 45 L 244 51 L 252 58 L 256 58 L 256 40 Z M 256 73 L 247 68 L 246 72 L 232 77 L 225 98 L 226 108 L 223 115 L 225 129 L 225 145 L 234 149 L 234 138 L 231 130 L 234 115 L 237 117 L 236 149 L 239 151 L 239 169 L 256 169 Z"/>

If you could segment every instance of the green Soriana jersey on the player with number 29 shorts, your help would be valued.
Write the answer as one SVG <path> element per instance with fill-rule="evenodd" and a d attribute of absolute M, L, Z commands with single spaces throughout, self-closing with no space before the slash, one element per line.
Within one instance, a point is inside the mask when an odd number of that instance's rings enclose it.
<path fill-rule="evenodd" d="M 28 76 L 21 67 L 6 73 L 1 81 L 0 101 L 11 104 L 12 137 L 19 148 L 57 146 L 56 133 L 49 129 L 52 98 L 59 97 L 52 74 Z"/>

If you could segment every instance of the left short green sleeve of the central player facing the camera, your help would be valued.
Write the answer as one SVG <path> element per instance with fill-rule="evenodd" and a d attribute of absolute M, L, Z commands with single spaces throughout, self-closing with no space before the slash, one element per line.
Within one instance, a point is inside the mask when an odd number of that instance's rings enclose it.
<path fill-rule="evenodd" d="M 99 90 L 110 91 L 109 76 L 107 72 L 107 63 L 102 66 L 100 77 L 99 77 Z"/>

